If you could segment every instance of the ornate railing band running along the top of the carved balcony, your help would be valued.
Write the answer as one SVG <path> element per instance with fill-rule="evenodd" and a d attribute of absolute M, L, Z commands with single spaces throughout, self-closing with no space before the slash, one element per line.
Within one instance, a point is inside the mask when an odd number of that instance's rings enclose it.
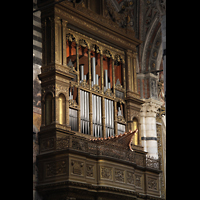
<path fill-rule="evenodd" d="M 41 139 L 40 154 L 50 153 L 55 151 L 77 151 L 88 154 L 89 156 L 101 156 L 104 158 L 117 159 L 122 162 L 129 162 L 141 167 L 148 167 L 151 169 L 160 169 L 159 160 L 146 157 L 146 153 L 141 151 L 142 147 L 134 148 L 130 151 L 128 148 L 122 148 L 117 142 L 116 144 L 93 143 L 87 138 L 77 135 L 67 135 L 59 137 L 56 141 L 54 138 Z"/>

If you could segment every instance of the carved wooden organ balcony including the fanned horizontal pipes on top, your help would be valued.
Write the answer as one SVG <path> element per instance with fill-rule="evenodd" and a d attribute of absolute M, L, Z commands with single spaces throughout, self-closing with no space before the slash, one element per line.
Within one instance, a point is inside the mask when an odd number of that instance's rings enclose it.
<path fill-rule="evenodd" d="M 136 131 L 98 139 L 41 137 L 38 191 L 44 196 L 55 190 L 74 196 L 81 190 L 90 197 L 110 193 L 122 199 L 160 199 L 159 161 L 147 158 L 143 147 L 131 145 Z"/>

